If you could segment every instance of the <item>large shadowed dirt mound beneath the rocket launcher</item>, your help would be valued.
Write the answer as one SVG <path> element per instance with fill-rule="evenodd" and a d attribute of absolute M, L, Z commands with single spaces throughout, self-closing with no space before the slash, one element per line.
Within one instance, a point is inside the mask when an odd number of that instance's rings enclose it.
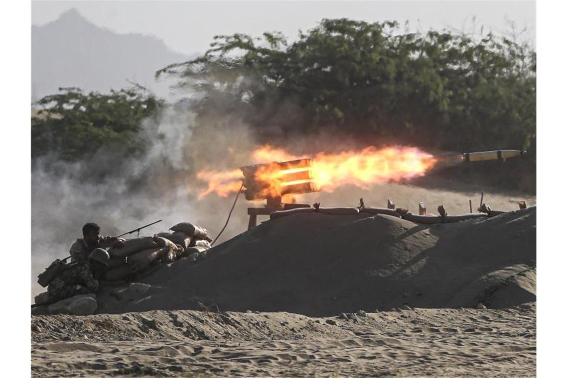
<path fill-rule="evenodd" d="M 148 291 L 99 295 L 99 313 L 157 309 L 287 311 L 310 316 L 411 307 L 503 308 L 536 300 L 536 207 L 415 224 L 388 215 L 296 214 L 178 261 Z M 116 289 L 115 289 L 116 290 Z"/>

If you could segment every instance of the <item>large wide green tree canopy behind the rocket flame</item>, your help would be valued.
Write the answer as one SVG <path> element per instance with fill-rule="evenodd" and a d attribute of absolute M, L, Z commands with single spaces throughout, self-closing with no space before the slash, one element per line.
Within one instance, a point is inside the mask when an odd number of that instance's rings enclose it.
<path fill-rule="evenodd" d="M 290 45 L 281 33 L 216 36 L 164 74 L 201 94 L 200 114 L 223 103 L 260 135 L 329 129 L 447 150 L 535 147 L 536 53 L 491 34 L 324 19 Z"/>

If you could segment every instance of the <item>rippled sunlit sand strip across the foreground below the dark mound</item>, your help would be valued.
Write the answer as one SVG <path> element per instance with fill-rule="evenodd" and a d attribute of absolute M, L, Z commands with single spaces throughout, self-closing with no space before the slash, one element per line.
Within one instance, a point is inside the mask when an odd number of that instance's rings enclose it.
<path fill-rule="evenodd" d="M 33 376 L 534 376 L 536 304 L 32 318 Z"/>

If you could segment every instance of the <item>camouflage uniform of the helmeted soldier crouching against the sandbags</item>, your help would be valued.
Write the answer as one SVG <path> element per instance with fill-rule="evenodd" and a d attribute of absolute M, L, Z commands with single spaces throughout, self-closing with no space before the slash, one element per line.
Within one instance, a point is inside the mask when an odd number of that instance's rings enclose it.
<path fill-rule="evenodd" d="M 99 282 L 93 277 L 88 261 L 70 264 L 49 283 L 49 298 L 61 300 L 77 294 L 87 294 L 99 290 Z"/>

